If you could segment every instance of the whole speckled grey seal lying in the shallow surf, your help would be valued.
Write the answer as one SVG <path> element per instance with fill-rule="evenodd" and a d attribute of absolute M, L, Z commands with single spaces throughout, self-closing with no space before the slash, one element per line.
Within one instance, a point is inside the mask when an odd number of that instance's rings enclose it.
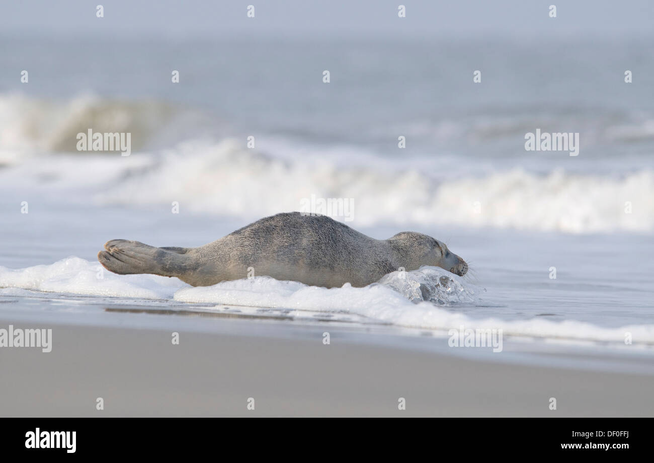
<path fill-rule="evenodd" d="M 148 246 L 114 239 L 97 260 L 120 275 L 153 273 L 193 286 L 267 275 L 333 288 L 366 286 L 392 271 L 437 266 L 465 275 L 468 264 L 430 236 L 401 232 L 373 239 L 323 215 L 281 213 L 197 248 Z M 249 268 L 250 272 L 249 272 Z"/>

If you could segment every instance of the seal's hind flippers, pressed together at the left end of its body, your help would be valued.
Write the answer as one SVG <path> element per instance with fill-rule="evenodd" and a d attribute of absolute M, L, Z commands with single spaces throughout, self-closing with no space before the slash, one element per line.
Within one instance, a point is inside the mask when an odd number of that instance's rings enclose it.
<path fill-rule="evenodd" d="M 181 252 L 184 250 L 184 252 Z M 186 248 L 157 248 L 139 241 L 113 239 L 105 250 L 97 253 L 97 260 L 107 270 L 119 275 L 152 273 L 163 277 L 177 277 L 188 269 Z"/>

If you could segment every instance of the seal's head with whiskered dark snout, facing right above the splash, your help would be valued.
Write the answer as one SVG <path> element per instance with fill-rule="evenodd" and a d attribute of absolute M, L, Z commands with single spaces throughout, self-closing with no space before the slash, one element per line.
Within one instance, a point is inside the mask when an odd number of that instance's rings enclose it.
<path fill-rule="evenodd" d="M 466 261 L 447 249 L 445 243 L 428 235 L 401 232 L 388 240 L 398 251 L 407 270 L 421 266 L 441 267 L 462 277 L 468 272 Z"/>

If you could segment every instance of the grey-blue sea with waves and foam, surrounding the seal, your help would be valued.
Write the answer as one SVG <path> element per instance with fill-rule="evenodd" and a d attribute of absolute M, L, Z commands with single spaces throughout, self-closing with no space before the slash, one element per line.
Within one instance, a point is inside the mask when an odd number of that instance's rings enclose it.
<path fill-rule="evenodd" d="M 128 305 L 654 346 L 646 43 L 7 42 L 1 62 L 29 82 L 0 75 L 0 311 L 102 324 L 94 307 Z M 78 152 L 88 129 L 131 133 L 131 154 Z M 578 156 L 526 151 L 536 129 L 579 133 Z M 312 196 L 351 198 L 347 224 L 375 238 L 432 235 L 471 271 L 192 288 L 95 259 L 116 238 L 202 245 Z"/>

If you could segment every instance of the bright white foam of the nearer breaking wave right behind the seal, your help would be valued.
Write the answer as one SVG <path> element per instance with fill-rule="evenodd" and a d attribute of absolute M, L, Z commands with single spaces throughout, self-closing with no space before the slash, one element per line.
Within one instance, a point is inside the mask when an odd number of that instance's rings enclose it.
<path fill-rule="evenodd" d="M 360 226 L 456 224 L 568 233 L 654 230 L 650 170 L 606 177 L 514 169 L 439 182 L 410 162 L 404 169 L 388 171 L 375 165 L 344 167 L 328 158 L 280 160 L 230 139 L 168 150 L 162 163 L 98 197 L 126 205 L 163 204 L 174 198 L 199 213 L 252 219 L 297 211 L 301 199 L 312 194 L 354 198 L 354 220 Z M 627 202 L 631 213 L 625 213 Z"/>

